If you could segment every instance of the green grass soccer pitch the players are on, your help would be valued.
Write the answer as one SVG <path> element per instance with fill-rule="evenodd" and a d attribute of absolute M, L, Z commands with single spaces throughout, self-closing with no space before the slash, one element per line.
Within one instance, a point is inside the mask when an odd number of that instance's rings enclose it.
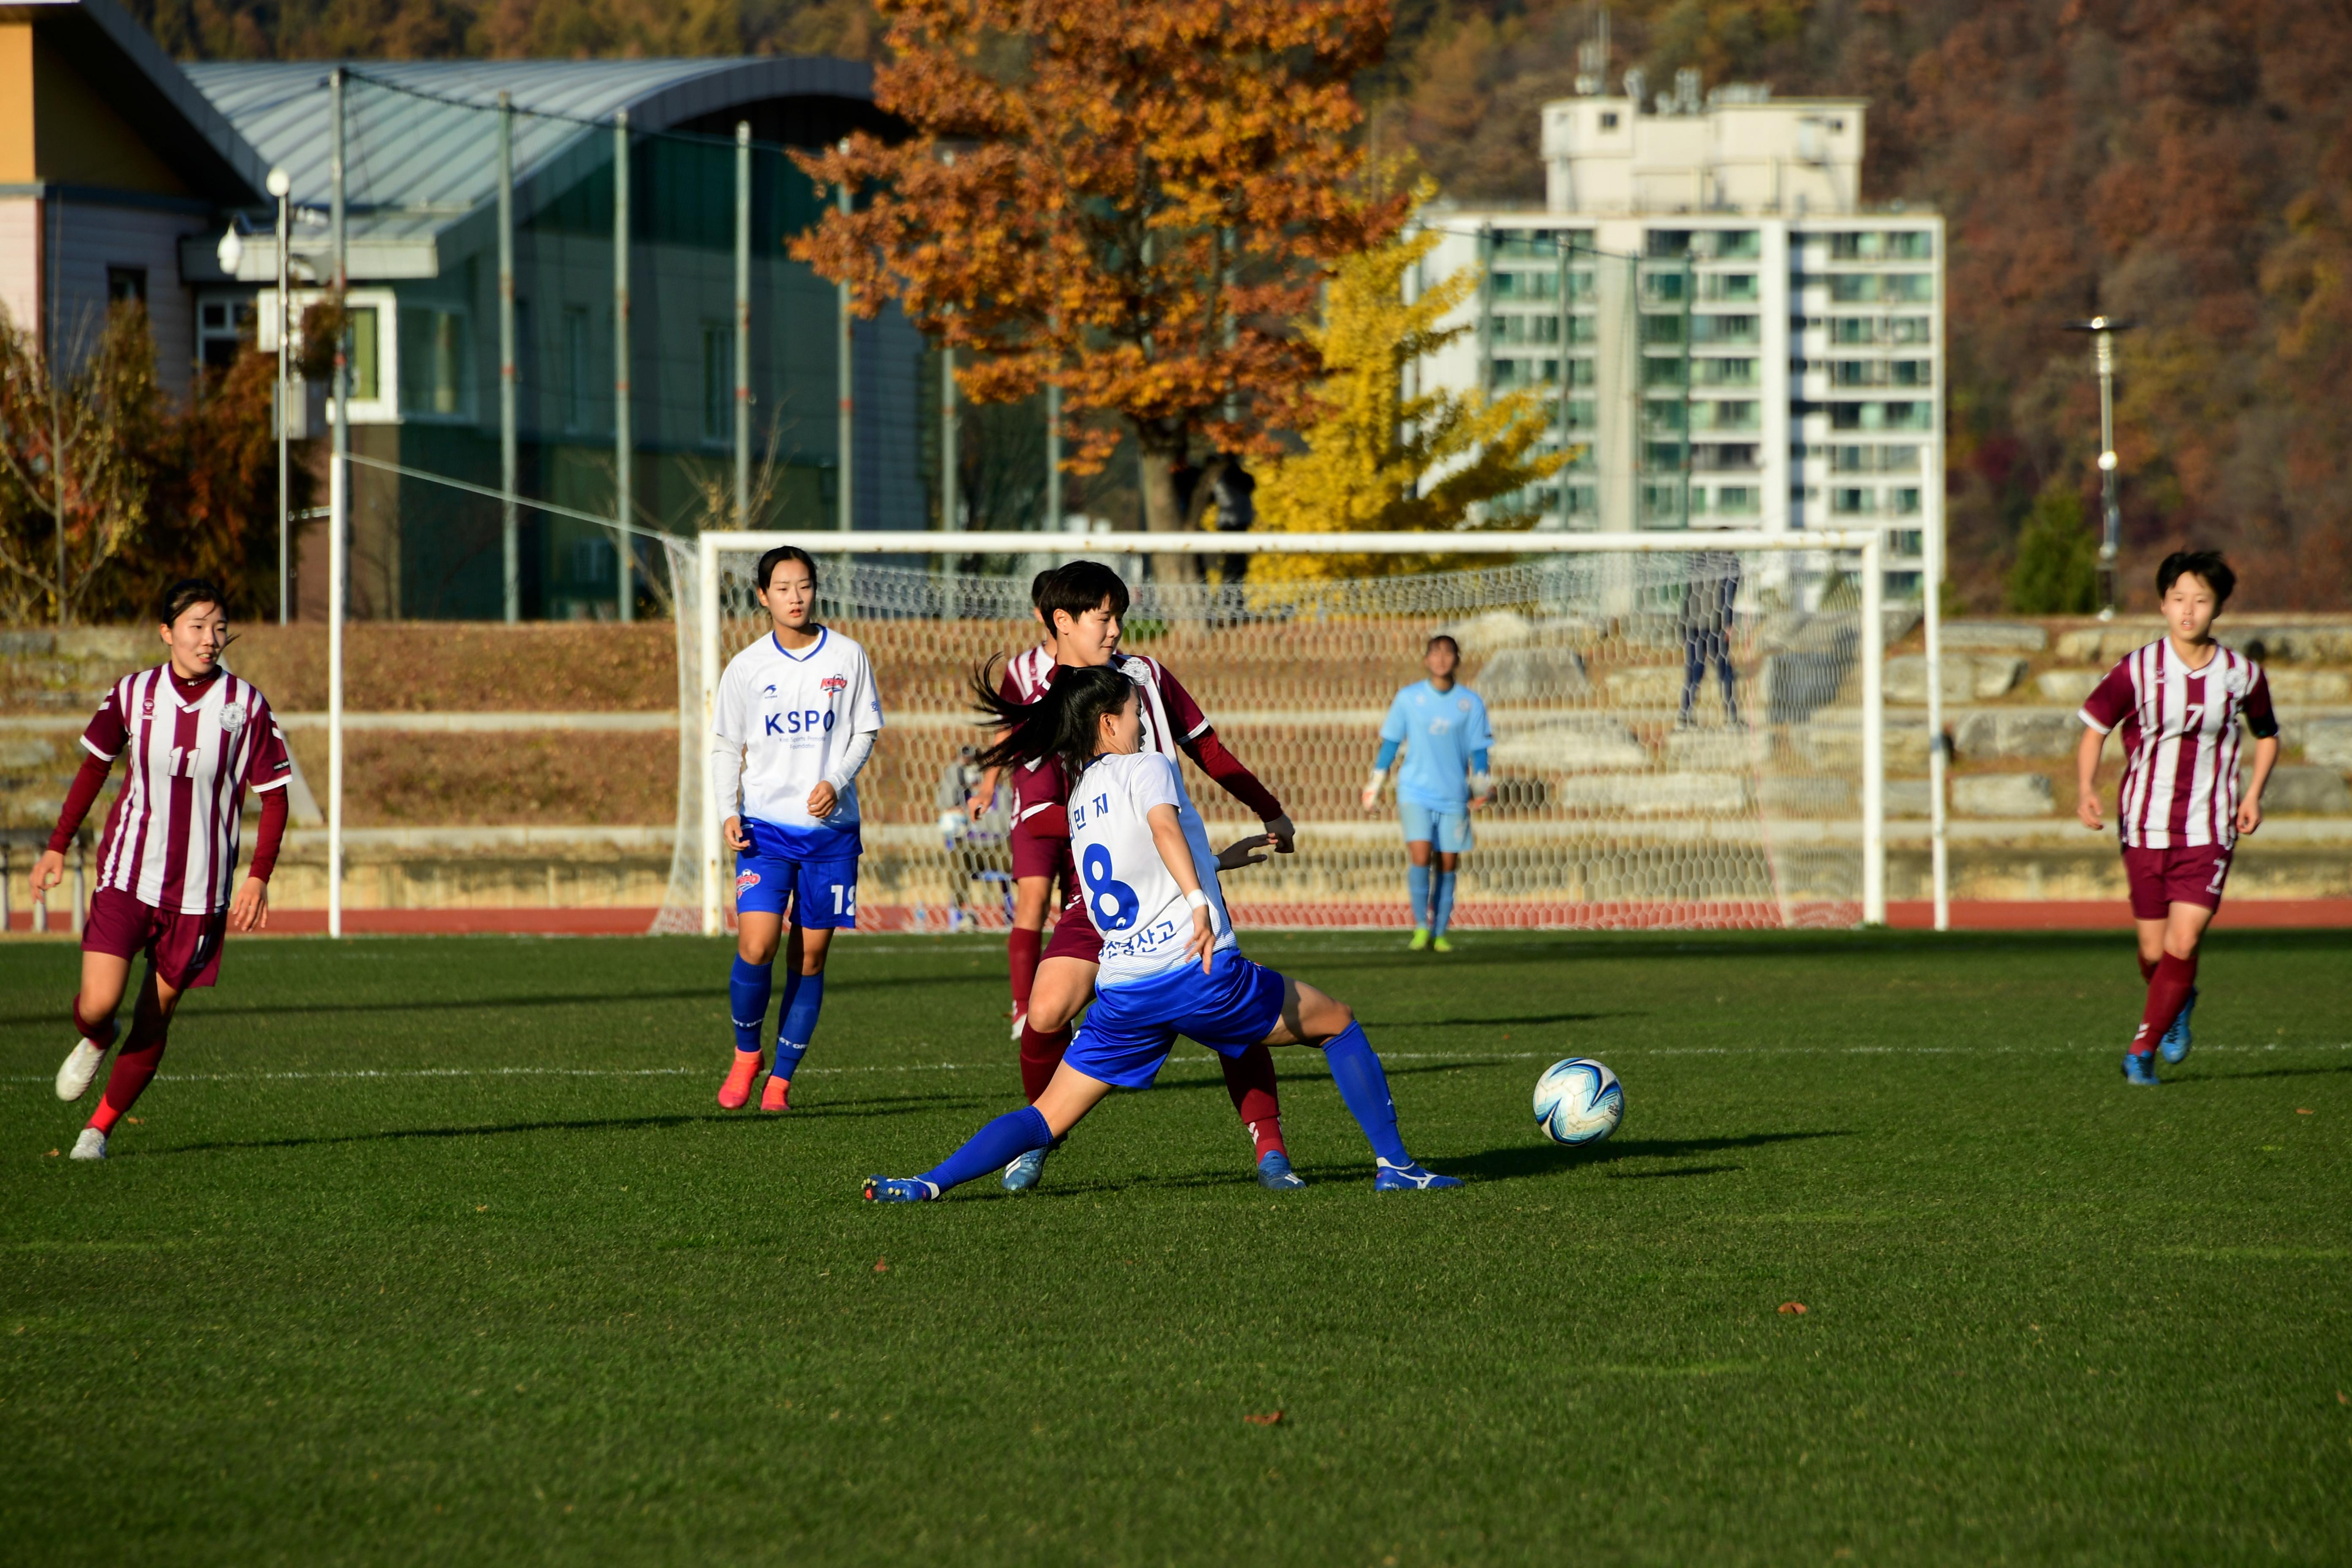
<path fill-rule="evenodd" d="M 1018 1103 L 1002 945 L 920 938 L 783 1119 L 717 943 L 235 943 L 75 1166 L 78 954 L 0 947 L 7 1556 L 2352 1561 L 2352 936 L 2216 936 L 2157 1093 L 2119 936 L 1249 947 L 1465 1190 L 1277 1051 L 1261 1192 L 1181 1046 L 1035 1194 L 861 1204 Z"/>

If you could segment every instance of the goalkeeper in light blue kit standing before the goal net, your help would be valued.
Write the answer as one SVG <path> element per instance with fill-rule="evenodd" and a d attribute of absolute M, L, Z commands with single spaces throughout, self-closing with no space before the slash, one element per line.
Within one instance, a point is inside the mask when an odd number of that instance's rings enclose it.
<path fill-rule="evenodd" d="M 1470 849 L 1470 813 L 1486 804 L 1486 748 L 1494 731 L 1486 703 L 1477 691 L 1454 679 L 1461 644 L 1444 632 L 1430 637 L 1421 668 L 1428 679 L 1414 682 L 1388 705 L 1381 722 L 1381 755 L 1364 780 L 1364 811 L 1381 804 L 1381 783 L 1404 748 L 1397 773 L 1397 818 L 1404 823 L 1404 886 L 1414 900 L 1411 950 L 1454 952 L 1446 926 L 1454 924 L 1454 875 Z"/>

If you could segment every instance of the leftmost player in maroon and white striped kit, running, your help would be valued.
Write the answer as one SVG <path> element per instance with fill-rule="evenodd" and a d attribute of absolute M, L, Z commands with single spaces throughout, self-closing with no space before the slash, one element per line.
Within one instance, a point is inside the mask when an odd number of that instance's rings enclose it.
<path fill-rule="evenodd" d="M 99 1077 L 141 952 L 148 976 L 75 1159 L 106 1159 L 115 1121 L 155 1077 L 179 999 L 221 973 L 223 933 L 259 931 L 270 919 L 270 870 L 294 776 L 285 733 L 261 693 L 221 668 L 228 611 L 219 588 L 202 578 L 174 583 L 162 602 L 162 644 L 172 656 L 125 675 L 82 731 L 89 755 L 33 867 L 35 893 L 64 879 L 66 846 L 122 757 L 122 792 L 99 839 L 99 889 L 82 924 L 82 990 L 73 999 L 80 1039 L 56 1070 L 59 1100 L 80 1100 Z M 247 790 L 261 795 L 261 832 L 230 898 Z"/>

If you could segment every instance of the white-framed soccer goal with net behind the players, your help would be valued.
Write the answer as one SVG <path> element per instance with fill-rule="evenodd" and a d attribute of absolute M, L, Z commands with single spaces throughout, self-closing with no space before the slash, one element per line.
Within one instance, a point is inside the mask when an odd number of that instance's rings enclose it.
<path fill-rule="evenodd" d="M 978 743 L 967 672 L 1035 642 L 1030 576 L 1103 559 L 1129 581 L 1122 646 L 1200 698 L 1284 802 L 1298 853 L 1237 872 L 1258 929 L 1404 922 L 1395 809 L 1359 790 L 1397 686 L 1451 632 L 1486 698 L 1494 802 L 1475 818 L 1463 929 L 1851 926 L 1886 919 L 1879 534 L 703 534 L 677 583 L 677 851 L 656 931 L 727 929 L 731 875 L 708 809 L 717 677 L 767 630 L 760 552 L 818 557 L 821 618 L 866 644 L 887 729 L 858 778 L 866 929 L 1002 926 L 1000 825 L 941 820 L 941 778 Z M 1301 576 L 1355 557 L 1491 559 L 1411 576 Z M 1145 581 L 1150 557 L 1204 576 Z M 1294 557 L 1284 562 L 1279 557 Z M 1341 557 L 1334 562 L 1331 557 Z M 1169 574 L 1174 576 L 1174 574 Z M 1684 722 L 1689 628 L 1729 599 L 1740 722 L 1710 661 Z M 1722 611 L 1717 611 L 1719 616 Z M 1249 813 L 1188 766 L 1211 832 Z M 953 795 L 953 792 L 950 792 Z"/>

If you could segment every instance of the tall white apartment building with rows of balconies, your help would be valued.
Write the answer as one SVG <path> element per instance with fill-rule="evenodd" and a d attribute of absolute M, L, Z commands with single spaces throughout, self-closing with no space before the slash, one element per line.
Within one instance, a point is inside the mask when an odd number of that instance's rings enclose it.
<path fill-rule="evenodd" d="M 1943 527 L 1943 219 L 1860 202 L 1860 99 L 1696 73 L 1543 106 L 1541 209 L 1423 209 L 1418 287 L 1482 275 L 1421 386 L 1541 388 L 1576 451 L 1524 501 L 1566 529 L 1886 529 L 1922 590 Z"/>

